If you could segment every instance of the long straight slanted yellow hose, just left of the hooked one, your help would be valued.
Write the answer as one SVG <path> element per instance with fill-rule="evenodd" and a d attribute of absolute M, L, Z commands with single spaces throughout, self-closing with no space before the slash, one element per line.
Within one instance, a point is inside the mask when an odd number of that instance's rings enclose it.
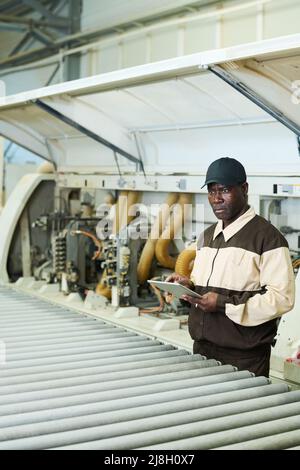
<path fill-rule="evenodd" d="M 170 193 L 166 202 L 160 206 L 159 213 L 152 225 L 149 238 L 145 243 L 138 263 L 137 277 L 139 284 L 143 284 L 149 279 L 151 263 L 155 254 L 155 245 L 170 216 L 170 207 L 177 202 L 178 197 L 178 193 Z"/>

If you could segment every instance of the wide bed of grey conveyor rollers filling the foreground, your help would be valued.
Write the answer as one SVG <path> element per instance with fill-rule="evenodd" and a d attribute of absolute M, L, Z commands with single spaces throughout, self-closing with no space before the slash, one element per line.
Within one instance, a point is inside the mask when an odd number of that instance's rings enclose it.
<path fill-rule="evenodd" d="M 8 311 L 0 449 L 278 448 L 265 438 L 299 427 L 286 385 L 67 309 Z"/>

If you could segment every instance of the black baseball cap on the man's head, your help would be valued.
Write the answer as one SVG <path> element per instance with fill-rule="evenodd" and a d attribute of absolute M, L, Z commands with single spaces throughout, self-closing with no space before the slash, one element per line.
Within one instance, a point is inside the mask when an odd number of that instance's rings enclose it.
<path fill-rule="evenodd" d="M 235 158 L 219 158 L 212 162 L 206 173 L 205 183 L 201 188 L 210 183 L 236 186 L 245 183 L 247 179 L 243 165 Z"/>

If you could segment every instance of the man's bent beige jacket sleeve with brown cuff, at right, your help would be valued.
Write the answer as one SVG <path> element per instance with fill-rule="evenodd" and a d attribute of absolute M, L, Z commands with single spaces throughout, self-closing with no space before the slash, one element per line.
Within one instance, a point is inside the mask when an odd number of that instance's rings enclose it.
<path fill-rule="evenodd" d="M 255 326 L 290 311 L 295 302 L 295 276 L 287 247 L 264 252 L 260 259 L 261 293 L 218 294 L 217 309 L 234 323 Z"/>

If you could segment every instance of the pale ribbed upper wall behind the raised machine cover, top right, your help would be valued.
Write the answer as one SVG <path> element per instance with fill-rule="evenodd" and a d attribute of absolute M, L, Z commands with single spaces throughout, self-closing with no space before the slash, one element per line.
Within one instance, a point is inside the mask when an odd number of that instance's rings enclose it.
<path fill-rule="evenodd" d="M 103 29 L 190 1 L 83 0 L 83 30 Z M 82 76 L 300 32 L 299 0 L 229 1 L 177 18 L 159 18 L 97 41 L 82 56 Z"/>

